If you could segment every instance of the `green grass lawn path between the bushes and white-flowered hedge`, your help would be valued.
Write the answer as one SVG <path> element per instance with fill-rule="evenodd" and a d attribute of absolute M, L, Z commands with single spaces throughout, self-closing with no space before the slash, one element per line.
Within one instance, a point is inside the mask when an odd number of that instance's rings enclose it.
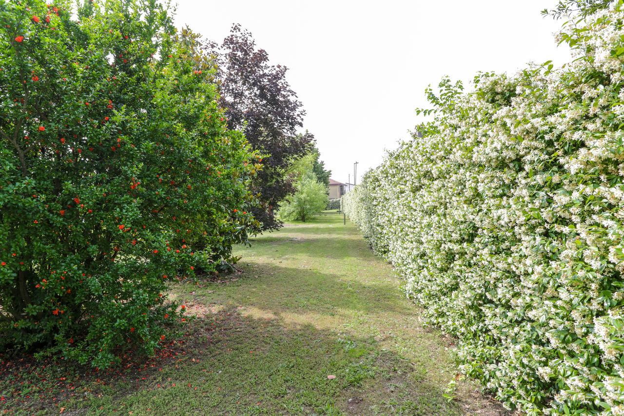
<path fill-rule="evenodd" d="M 236 255 L 241 273 L 173 285 L 198 319 L 157 357 L 102 374 L 11 362 L 0 413 L 504 413 L 470 382 L 442 396 L 456 377 L 452 340 L 423 328 L 391 266 L 341 214 L 287 224 Z"/>

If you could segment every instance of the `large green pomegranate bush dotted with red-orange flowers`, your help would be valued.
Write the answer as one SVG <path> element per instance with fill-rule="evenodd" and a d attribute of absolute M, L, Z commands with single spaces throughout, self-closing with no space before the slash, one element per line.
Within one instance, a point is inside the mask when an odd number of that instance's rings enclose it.
<path fill-rule="evenodd" d="M 245 241 L 260 166 L 167 9 L 72 12 L 0 0 L 0 348 L 103 367 L 153 352 L 182 319 L 167 282 Z"/>

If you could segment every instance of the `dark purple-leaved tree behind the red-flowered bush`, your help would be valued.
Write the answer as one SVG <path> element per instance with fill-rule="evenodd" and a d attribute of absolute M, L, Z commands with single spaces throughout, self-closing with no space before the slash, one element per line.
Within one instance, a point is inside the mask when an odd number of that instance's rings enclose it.
<path fill-rule="evenodd" d="M 265 155 L 263 169 L 252 189 L 260 204 L 252 208 L 261 230 L 281 227 L 275 218 L 283 199 L 295 192 L 285 175 L 293 161 L 313 147 L 314 136 L 297 134 L 303 126 L 305 111 L 297 94 L 286 80 L 288 68 L 269 62 L 264 49 L 256 49 L 251 32 L 234 24 L 222 44 L 208 42 L 215 57 L 220 85 L 220 104 L 227 114 L 228 126 L 245 132 L 253 149 Z"/>

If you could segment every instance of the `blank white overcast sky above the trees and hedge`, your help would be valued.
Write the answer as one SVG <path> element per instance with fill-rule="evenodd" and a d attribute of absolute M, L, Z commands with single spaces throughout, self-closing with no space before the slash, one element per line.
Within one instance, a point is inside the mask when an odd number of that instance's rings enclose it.
<path fill-rule="evenodd" d="M 542 17 L 555 0 L 177 0 L 176 25 L 222 41 L 232 23 L 283 64 L 303 102 L 331 177 L 358 180 L 408 139 L 442 76 L 465 85 L 478 71 L 515 72 L 527 62 L 568 61 Z"/>

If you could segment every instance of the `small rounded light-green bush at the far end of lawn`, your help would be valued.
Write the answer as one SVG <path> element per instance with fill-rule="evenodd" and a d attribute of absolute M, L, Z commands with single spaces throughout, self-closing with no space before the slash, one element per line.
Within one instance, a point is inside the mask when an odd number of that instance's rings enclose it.
<path fill-rule="evenodd" d="M 327 206 L 327 187 L 316 179 L 314 172 L 304 172 L 295 183 L 295 189 L 295 194 L 286 197 L 281 206 L 281 219 L 305 222 Z"/>

